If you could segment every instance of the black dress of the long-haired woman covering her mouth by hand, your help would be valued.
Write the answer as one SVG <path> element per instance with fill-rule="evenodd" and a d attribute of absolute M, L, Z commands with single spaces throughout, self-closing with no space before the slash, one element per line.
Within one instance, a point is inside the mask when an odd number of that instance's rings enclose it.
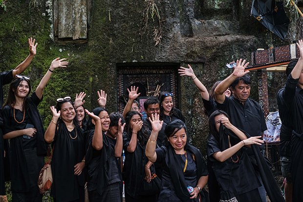
<path fill-rule="evenodd" d="M 136 149 L 133 153 L 127 151 L 130 144 L 131 136 L 123 133 L 123 149 L 125 153 L 125 161 L 123 166 L 123 180 L 126 202 L 156 202 L 157 196 L 142 196 L 138 192 L 140 183 L 144 180 L 145 165 L 149 159 L 145 155 L 146 145 L 142 145 L 137 141 Z M 154 165 L 151 166 L 151 172 L 154 173 Z"/>

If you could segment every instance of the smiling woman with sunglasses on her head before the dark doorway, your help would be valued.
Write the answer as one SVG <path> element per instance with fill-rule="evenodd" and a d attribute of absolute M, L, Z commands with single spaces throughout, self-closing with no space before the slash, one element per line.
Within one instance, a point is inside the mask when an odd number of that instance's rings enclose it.
<path fill-rule="evenodd" d="M 164 123 L 168 124 L 176 119 L 185 122 L 182 112 L 173 107 L 173 93 L 163 91 L 159 94 L 158 100 L 160 101 L 160 119 Z"/>

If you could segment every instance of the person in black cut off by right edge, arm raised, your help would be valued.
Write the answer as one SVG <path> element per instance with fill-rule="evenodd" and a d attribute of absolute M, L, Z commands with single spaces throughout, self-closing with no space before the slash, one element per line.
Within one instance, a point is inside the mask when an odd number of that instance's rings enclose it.
<path fill-rule="evenodd" d="M 293 182 L 292 201 L 303 199 L 303 41 L 297 43 L 300 58 L 288 75 L 282 99 L 289 110 L 292 122 L 291 177 Z M 287 70 L 287 69 L 286 69 Z"/>

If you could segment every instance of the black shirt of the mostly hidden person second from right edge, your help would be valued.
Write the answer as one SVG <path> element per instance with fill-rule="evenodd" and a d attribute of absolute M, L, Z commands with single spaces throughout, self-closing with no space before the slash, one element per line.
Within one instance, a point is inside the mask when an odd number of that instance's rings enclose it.
<path fill-rule="evenodd" d="M 284 102 L 283 94 L 285 87 L 279 90 L 277 94 L 277 103 L 279 108 L 279 115 L 282 121 L 280 130 L 280 155 L 281 157 L 290 156 L 290 139 L 293 131 L 291 112 L 287 108 L 287 104 Z"/>

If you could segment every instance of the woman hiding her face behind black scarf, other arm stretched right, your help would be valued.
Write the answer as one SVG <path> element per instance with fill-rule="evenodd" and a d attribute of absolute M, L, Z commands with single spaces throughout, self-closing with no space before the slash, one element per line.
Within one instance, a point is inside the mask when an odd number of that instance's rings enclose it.
<path fill-rule="evenodd" d="M 221 187 L 220 201 L 260 202 L 261 184 L 243 146 L 261 145 L 261 136 L 247 138 L 225 112 L 218 110 L 210 116 L 209 126 L 207 153 Z"/>

